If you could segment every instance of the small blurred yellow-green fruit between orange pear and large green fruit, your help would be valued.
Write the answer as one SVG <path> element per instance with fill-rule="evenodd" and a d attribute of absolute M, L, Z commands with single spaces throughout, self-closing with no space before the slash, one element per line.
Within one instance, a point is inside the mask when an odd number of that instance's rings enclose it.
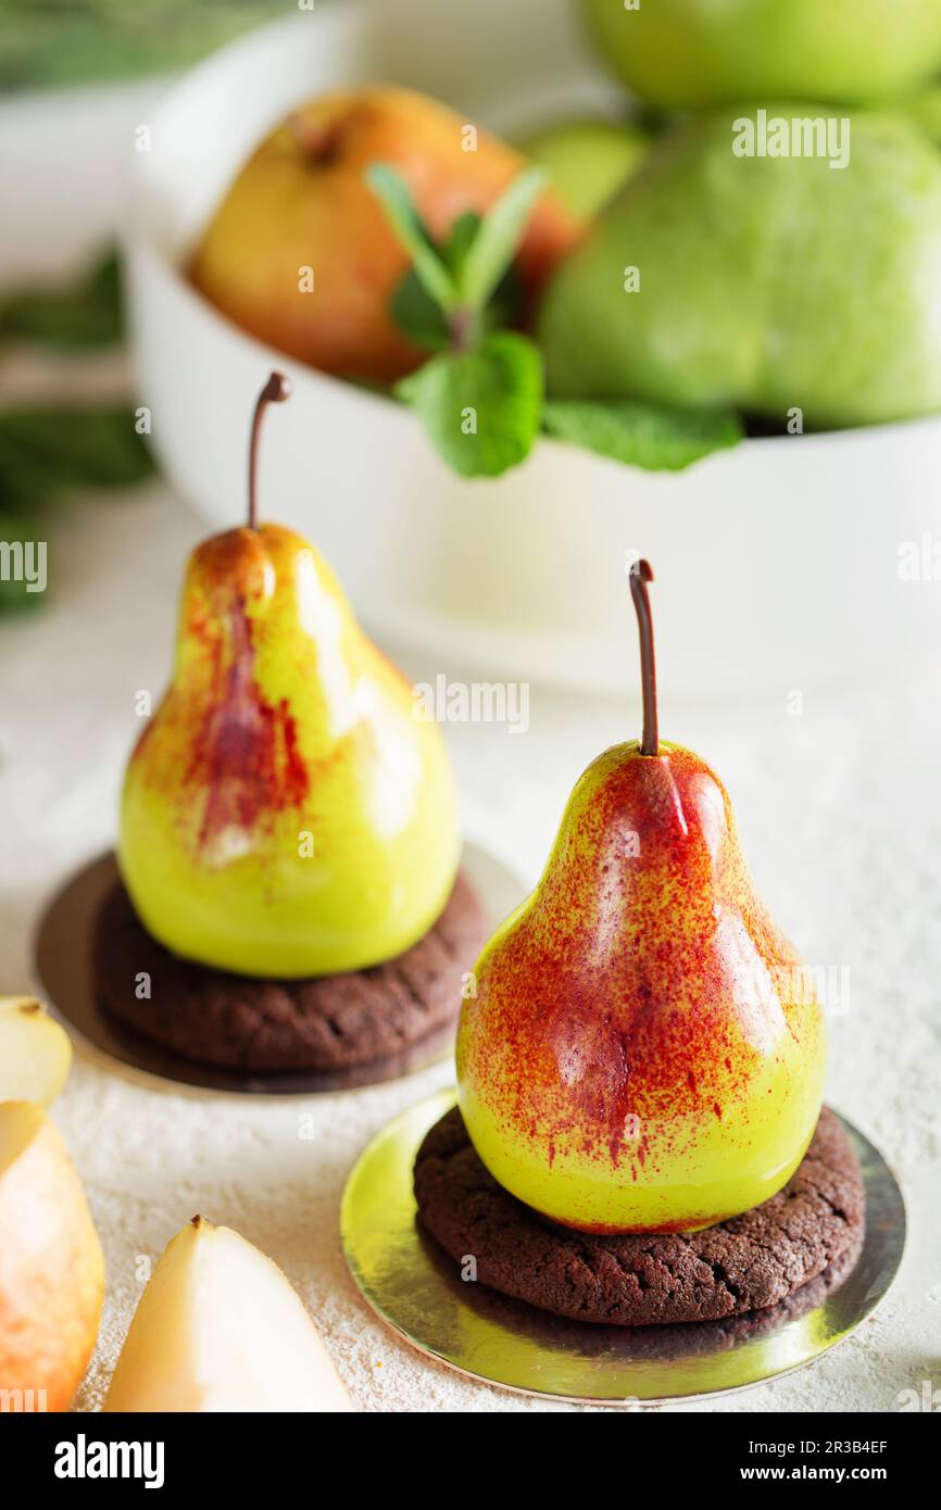
<path fill-rule="evenodd" d="M 628 121 L 569 121 L 530 136 L 520 151 L 548 171 L 574 216 L 591 220 L 640 165 L 649 137 Z"/>

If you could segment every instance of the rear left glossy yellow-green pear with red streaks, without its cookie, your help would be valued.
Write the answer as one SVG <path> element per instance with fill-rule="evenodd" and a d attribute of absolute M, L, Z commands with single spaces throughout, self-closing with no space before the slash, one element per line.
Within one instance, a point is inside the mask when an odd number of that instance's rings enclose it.
<path fill-rule="evenodd" d="M 361 969 L 438 918 L 459 852 L 450 764 L 302 536 L 193 553 L 174 680 L 131 755 L 119 864 L 156 939 L 246 975 Z"/>

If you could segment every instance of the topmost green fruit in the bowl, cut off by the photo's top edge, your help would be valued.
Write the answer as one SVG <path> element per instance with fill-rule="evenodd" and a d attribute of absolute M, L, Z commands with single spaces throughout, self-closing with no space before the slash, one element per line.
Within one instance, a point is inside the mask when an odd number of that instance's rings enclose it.
<path fill-rule="evenodd" d="M 642 100 L 763 95 L 865 104 L 941 65 L 936 0 L 582 0 L 598 53 Z"/>

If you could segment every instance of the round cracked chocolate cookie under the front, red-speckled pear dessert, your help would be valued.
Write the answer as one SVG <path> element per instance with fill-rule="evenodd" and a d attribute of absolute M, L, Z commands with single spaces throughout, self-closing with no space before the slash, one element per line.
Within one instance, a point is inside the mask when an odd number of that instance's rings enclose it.
<path fill-rule="evenodd" d="M 458 1108 L 415 1160 L 424 1228 L 477 1279 L 542 1311 L 606 1326 L 716 1321 L 778 1305 L 858 1256 L 865 1196 L 838 1119 L 823 1110 L 801 1167 L 763 1205 L 702 1232 L 597 1237 L 556 1226 L 483 1167 Z"/>

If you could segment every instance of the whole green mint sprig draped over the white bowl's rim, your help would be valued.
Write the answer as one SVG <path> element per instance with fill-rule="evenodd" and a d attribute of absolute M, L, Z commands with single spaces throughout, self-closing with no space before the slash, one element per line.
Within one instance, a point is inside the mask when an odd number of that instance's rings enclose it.
<path fill-rule="evenodd" d="M 388 163 L 366 178 L 411 258 L 390 313 L 429 353 L 394 393 L 421 418 L 462 477 L 498 477 L 526 461 L 539 433 L 625 465 L 677 471 L 743 435 L 734 411 L 637 402 L 545 400 L 539 347 L 518 331 L 514 260 L 547 174 L 524 169 L 485 216 L 465 213 L 440 245 Z"/>

